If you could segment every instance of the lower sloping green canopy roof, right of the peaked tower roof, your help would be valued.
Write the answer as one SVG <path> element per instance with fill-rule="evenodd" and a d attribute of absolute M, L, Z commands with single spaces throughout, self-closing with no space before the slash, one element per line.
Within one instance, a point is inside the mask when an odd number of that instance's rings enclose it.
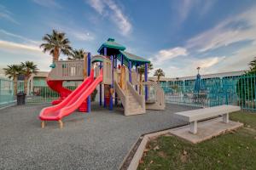
<path fill-rule="evenodd" d="M 146 63 L 150 63 L 148 59 L 143 59 L 135 54 L 131 54 L 125 51 L 119 51 L 119 55 L 117 56 L 119 60 L 121 60 L 121 55 L 123 55 L 124 64 L 128 66 L 129 61 L 131 61 L 131 65 L 144 65 Z"/>

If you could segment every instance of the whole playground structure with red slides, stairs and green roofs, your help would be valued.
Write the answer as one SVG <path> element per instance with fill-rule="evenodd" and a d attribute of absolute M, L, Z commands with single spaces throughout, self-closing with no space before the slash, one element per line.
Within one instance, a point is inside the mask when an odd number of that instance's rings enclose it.
<path fill-rule="evenodd" d="M 91 57 L 88 53 L 82 60 L 55 61 L 47 84 L 60 94 L 60 99 L 52 101 L 53 106 L 40 112 L 42 127 L 45 126 L 45 121 L 58 121 L 60 127 L 63 127 L 62 118 L 77 109 L 90 112 L 90 94 L 97 85 L 99 105 L 103 103 L 110 111 L 113 110 L 113 105 L 120 104 L 125 116 L 143 114 L 146 109 L 165 109 L 164 91 L 157 83 L 148 82 L 149 60 L 125 52 L 125 47 L 113 38 L 108 38 L 97 52 L 99 55 Z M 138 80 L 137 68 L 141 65 L 145 65 L 143 82 Z M 81 80 L 84 82 L 73 92 L 62 87 L 63 81 Z"/>

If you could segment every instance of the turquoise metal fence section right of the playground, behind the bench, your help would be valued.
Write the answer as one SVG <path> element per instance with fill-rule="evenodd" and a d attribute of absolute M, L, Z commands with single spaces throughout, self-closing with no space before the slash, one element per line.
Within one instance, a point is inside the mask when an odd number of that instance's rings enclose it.
<path fill-rule="evenodd" d="M 255 74 L 202 79 L 200 92 L 195 92 L 195 80 L 160 82 L 167 103 L 202 107 L 239 105 L 247 111 L 256 111 L 255 84 Z"/>

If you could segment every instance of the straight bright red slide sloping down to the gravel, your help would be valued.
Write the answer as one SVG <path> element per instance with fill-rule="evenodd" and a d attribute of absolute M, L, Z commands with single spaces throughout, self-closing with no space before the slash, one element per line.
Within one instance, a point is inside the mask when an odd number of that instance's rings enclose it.
<path fill-rule="evenodd" d="M 44 108 L 39 115 L 42 121 L 59 121 L 62 117 L 73 113 L 94 91 L 96 86 L 102 82 L 103 71 L 94 80 L 94 70 L 90 71 L 90 77 L 87 77 L 84 82 L 67 96 L 60 104 Z"/>

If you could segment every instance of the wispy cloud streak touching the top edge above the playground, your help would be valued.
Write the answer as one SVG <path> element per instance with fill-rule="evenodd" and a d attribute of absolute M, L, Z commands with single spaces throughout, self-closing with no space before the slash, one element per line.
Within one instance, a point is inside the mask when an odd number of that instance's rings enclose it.
<path fill-rule="evenodd" d="M 118 26 L 122 35 L 128 36 L 131 33 L 131 22 L 123 11 L 113 0 L 88 0 L 92 8 L 103 17 L 110 17 L 113 23 Z"/>

